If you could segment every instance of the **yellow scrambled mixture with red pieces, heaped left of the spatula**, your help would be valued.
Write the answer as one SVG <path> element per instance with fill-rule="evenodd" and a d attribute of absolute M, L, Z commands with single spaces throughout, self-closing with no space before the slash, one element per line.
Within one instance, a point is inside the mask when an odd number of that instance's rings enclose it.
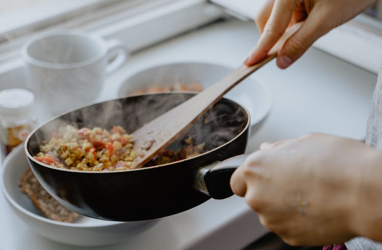
<path fill-rule="evenodd" d="M 41 145 L 34 158 L 58 168 L 120 171 L 134 168 L 138 153 L 132 146 L 132 136 L 120 126 L 109 131 L 66 126 Z"/>

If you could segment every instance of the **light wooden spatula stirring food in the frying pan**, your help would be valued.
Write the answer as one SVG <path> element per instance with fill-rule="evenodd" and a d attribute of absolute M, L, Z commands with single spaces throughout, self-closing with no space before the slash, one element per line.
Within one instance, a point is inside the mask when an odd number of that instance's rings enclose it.
<path fill-rule="evenodd" d="M 198 118 L 219 101 L 231 88 L 274 59 L 284 42 L 301 25 L 302 23 L 297 23 L 288 28 L 269 51 L 268 55 L 257 64 L 251 67 L 240 66 L 198 95 L 181 103 L 132 133 L 134 149 L 137 150 L 139 156 L 133 161 L 131 168 L 143 167 L 160 150 L 165 149 L 179 135 L 189 129 Z"/>

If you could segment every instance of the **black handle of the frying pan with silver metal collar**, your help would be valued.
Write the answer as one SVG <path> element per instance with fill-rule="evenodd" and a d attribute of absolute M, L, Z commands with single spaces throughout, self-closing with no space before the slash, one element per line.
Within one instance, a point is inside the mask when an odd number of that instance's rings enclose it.
<path fill-rule="evenodd" d="M 195 174 L 194 188 L 213 199 L 225 199 L 233 195 L 230 179 L 233 172 L 248 157 L 248 154 L 240 154 L 228 158 L 223 162 L 214 162 L 200 167 Z"/>

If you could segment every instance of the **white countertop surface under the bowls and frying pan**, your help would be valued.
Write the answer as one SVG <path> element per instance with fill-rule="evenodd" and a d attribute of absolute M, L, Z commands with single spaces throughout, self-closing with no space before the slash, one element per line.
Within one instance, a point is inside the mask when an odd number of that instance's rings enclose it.
<path fill-rule="evenodd" d="M 209 25 L 134 54 L 105 83 L 99 100 L 117 97 L 124 77 L 170 61 L 209 61 L 239 66 L 258 39 L 251 22 L 230 21 Z M 324 132 L 356 139 L 365 134 L 376 75 L 310 49 L 290 69 L 275 62 L 254 74 L 266 82 L 275 99 L 262 129 L 251 137 L 248 152 L 264 141 Z M 0 193 L 0 250 L 88 249 L 52 242 L 22 224 Z M 264 229 L 244 200 L 231 197 L 209 200 L 188 211 L 162 218 L 153 228 L 125 242 L 97 249 L 241 249 Z"/>

